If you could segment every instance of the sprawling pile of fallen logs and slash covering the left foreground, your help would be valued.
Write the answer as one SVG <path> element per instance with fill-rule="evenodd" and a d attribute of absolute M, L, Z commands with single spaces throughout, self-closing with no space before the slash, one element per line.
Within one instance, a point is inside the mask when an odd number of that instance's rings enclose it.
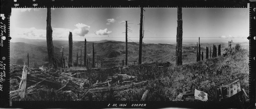
<path fill-rule="evenodd" d="M 22 80 L 23 68 L 23 66 L 11 65 L 10 79 Z M 126 74 L 114 74 L 107 76 L 105 81 L 97 80 L 96 83 L 89 83 L 88 79 L 77 78 L 77 75 L 82 73 L 88 75 L 86 68 L 66 68 L 51 71 L 43 69 L 43 67 L 39 69 L 27 67 L 26 69 L 26 95 L 39 93 L 39 91 L 53 91 L 53 89 L 56 93 L 81 92 L 85 95 L 109 90 L 125 90 L 144 86 L 148 83 L 148 81 L 138 81 L 135 76 Z M 10 99 L 18 98 L 19 90 L 10 91 Z"/>

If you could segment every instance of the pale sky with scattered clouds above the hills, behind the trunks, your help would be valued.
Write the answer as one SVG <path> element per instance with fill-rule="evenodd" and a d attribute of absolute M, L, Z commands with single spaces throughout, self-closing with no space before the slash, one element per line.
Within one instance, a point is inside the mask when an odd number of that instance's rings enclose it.
<path fill-rule="evenodd" d="M 249 6 L 248 6 L 249 7 Z M 176 43 L 177 8 L 144 8 L 144 43 Z M 12 8 L 13 39 L 46 39 L 46 8 Z M 182 8 L 183 43 L 245 42 L 249 36 L 249 8 Z M 140 8 L 52 8 L 53 40 L 139 42 Z M 12 41 L 12 40 L 11 40 Z"/>

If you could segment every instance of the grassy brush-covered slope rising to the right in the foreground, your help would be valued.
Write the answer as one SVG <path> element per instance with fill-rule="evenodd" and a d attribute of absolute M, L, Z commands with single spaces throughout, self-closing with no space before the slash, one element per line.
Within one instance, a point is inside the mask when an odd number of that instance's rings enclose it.
<path fill-rule="evenodd" d="M 130 98 L 139 100 L 140 98 L 136 96 L 142 95 L 146 89 L 150 90 L 148 96 L 150 101 L 174 100 L 179 91 L 194 91 L 196 88 L 208 93 L 208 98 L 212 101 L 218 86 L 228 85 L 237 79 L 241 80 L 241 87 L 249 93 L 248 55 L 244 54 L 248 54 L 248 50 L 240 50 L 227 57 L 207 59 L 179 67 L 169 67 L 168 69 L 137 69 L 140 72 L 140 75 L 137 76 L 142 77 L 141 79 L 151 78 L 154 81 L 153 77 L 156 75 L 156 79 L 163 80 L 151 82 L 144 89 L 131 89 L 120 93 L 119 96 L 121 97 L 116 100 Z M 131 70 L 134 71 L 134 69 Z M 130 72 L 127 71 L 127 74 Z M 127 93 L 129 94 L 127 95 Z"/>

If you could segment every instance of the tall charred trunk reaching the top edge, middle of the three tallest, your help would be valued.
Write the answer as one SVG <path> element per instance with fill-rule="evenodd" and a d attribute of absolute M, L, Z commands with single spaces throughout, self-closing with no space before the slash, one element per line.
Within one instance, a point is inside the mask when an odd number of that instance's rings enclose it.
<path fill-rule="evenodd" d="M 143 6 L 141 6 L 140 9 L 140 47 L 139 47 L 139 64 L 141 64 L 141 58 L 142 58 L 142 22 L 143 19 Z"/>

